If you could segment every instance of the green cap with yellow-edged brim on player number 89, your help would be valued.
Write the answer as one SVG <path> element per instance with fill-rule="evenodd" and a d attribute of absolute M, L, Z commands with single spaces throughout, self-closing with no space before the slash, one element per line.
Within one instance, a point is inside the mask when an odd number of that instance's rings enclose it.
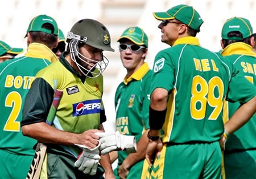
<path fill-rule="evenodd" d="M 204 22 L 199 13 L 187 5 L 174 6 L 166 12 L 153 12 L 153 15 L 158 20 L 177 19 L 197 32 L 200 32 L 200 27 Z"/>

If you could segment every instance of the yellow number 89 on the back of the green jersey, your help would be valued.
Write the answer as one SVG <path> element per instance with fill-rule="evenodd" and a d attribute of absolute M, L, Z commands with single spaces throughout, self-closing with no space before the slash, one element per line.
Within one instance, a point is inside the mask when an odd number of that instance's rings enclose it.
<path fill-rule="evenodd" d="M 217 92 L 218 95 L 216 95 Z M 208 120 L 217 120 L 222 110 L 222 99 L 224 95 L 224 84 L 221 78 L 214 76 L 207 83 L 202 76 L 197 75 L 193 78 L 191 93 L 190 105 L 192 118 L 195 120 L 205 118 L 208 103 L 214 108 Z"/>

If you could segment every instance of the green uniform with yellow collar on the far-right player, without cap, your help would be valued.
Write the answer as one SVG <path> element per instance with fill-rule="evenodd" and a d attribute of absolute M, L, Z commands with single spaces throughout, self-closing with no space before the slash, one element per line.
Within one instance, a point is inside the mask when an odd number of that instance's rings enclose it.
<path fill-rule="evenodd" d="M 256 54 L 250 45 L 235 42 L 226 46 L 221 54 L 228 57 L 239 73 L 256 86 Z M 228 103 L 228 118 L 240 105 Z M 227 120 L 224 118 L 224 122 Z M 239 130 L 229 135 L 224 149 L 226 178 L 256 178 L 256 114 Z"/>

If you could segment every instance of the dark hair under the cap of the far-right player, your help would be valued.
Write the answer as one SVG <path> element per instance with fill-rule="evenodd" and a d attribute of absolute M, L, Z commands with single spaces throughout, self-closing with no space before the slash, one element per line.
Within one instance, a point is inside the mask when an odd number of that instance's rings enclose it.
<path fill-rule="evenodd" d="M 224 45 L 224 48 L 226 48 L 226 46 L 233 44 L 235 42 L 243 42 L 245 44 L 251 45 L 251 36 L 247 37 L 245 39 L 243 39 L 243 35 L 241 32 L 239 31 L 232 31 L 228 33 L 228 37 L 240 37 L 241 40 L 226 40 L 226 39 L 222 39 L 222 44 Z"/>

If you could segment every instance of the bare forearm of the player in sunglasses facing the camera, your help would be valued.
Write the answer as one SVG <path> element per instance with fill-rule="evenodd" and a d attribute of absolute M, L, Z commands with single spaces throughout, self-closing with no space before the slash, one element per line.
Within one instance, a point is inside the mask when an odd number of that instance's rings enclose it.
<path fill-rule="evenodd" d="M 137 152 L 133 154 L 129 154 L 126 159 L 123 161 L 123 164 L 126 165 L 127 168 L 133 166 L 138 161 L 145 159 L 146 149 L 148 144 L 147 133 L 149 130 L 144 131 L 141 139 L 137 143 Z"/>

